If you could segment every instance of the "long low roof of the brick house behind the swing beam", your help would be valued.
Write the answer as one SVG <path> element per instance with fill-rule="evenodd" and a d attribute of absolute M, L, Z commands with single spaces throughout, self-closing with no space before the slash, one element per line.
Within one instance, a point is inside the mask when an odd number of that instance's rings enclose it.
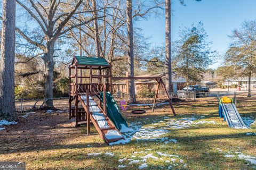
<path fill-rule="evenodd" d="M 163 80 L 165 79 L 165 73 L 156 73 L 156 74 L 144 74 L 144 75 L 137 75 L 135 77 L 161 77 Z M 126 84 L 127 80 L 117 80 L 113 82 L 113 84 Z M 152 79 L 144 79 L 144 80 L 134 80 L 134 83 L 155 83 L 155 80 Z M 175 78 L 175 74 L 172 74 L 172 82 L 173 83 L 185 83 L 186 80 L 179 77 Z"/>

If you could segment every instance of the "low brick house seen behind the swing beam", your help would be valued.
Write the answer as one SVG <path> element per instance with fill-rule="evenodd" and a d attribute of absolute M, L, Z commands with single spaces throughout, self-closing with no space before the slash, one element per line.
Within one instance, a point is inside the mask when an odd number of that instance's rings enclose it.
<path fill-rule="evenodd" d="M 135 77 L 162 77 L 163 81 L 165 82 L 165 74 L 146 74 L 146 75 L 138 75 Z M 186 83 L 186 80 L 183 78 L 174 78 L 175 76 L 172 76 L 172 89 L 174 93 L 177 93 L 178 90 L 183 89 L 184 84 Z M 144 93 L 144 89 L 147 88 L 148 91 L 156 91 L 157 88 L 157 82 L 156 80 L 134 80 L 135 82 L 135 93 L 141 94 Z M 128 80 L 118 80 L 113 82 L 113 90 L 115 92 L 123 92 L 125 94 L 128 93 L 127 87 Z M 164 92 L 163 87 L 161 86 L 159 89 L 159 92 Z"/>

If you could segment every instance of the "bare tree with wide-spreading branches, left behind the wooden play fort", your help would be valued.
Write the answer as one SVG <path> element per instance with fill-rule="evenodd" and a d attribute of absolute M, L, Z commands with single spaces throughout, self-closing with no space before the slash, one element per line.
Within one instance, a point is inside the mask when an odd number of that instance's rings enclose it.
<path fill-rule="evenodd" d="M 42 39 L 35 40 L 29 37 L 25 31 L 19 28 L 16 30 L 19 34 L 28 41 L 43 51 L 44 61 L 44 106 L 53 107 L 53 70 L 54 70 L 54 45 L 59 37 L 65 35 L 70 30 L 78 28 L 81 25 L 87 24 L 93 21 L 95 18 L 87 19 L 83 22 L 78 22 L 75 17 L 76 14 L 86 13 L 92 11 L 76 12 L 82 0 L 77 3 L 73 1 L 66 2 L 59 1 L 33 1 L 27 0 L 28 3 L 22 3 L 20 0 L 16 0 L 17 3 L 22 6 L 26 12 L 33 18 L 39 28 L 43 32 Z M 70 21 L 73 18 L 74 20 Z"/>

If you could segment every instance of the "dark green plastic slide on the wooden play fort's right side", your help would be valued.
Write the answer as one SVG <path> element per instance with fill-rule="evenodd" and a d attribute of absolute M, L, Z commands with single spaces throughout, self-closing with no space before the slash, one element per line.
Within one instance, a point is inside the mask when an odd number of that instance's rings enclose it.
<path fill-rule="evenodd" d="M 100 92 L 100 98 L 101 98 L 101 101 L 103 102 L 103 92 Z M 106 100 L 107 100 L 107 116 L 115 124 L 116 128 L 120 131 L 122 129 L 122 124 L 123 126 L 126 126 L 126 128 L 128 128 L 127 122 L 122 116 L 119 110 L 119 107 L 117 106 L 116 101 L 114 100 L 110 92 L 106 92 Z"/>

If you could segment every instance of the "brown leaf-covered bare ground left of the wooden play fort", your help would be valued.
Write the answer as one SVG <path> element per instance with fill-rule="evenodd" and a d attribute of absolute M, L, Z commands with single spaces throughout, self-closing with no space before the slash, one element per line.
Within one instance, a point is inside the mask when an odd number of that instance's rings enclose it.
<path fill-rule="evenodd" d="M 0 131 L 0 154 L 48 149 L 81 135 L 69 121 L 67 112 L 39 111 L 26 118 L 20 117 L 19 124 L 5 126 L 5 129 Z"/>

